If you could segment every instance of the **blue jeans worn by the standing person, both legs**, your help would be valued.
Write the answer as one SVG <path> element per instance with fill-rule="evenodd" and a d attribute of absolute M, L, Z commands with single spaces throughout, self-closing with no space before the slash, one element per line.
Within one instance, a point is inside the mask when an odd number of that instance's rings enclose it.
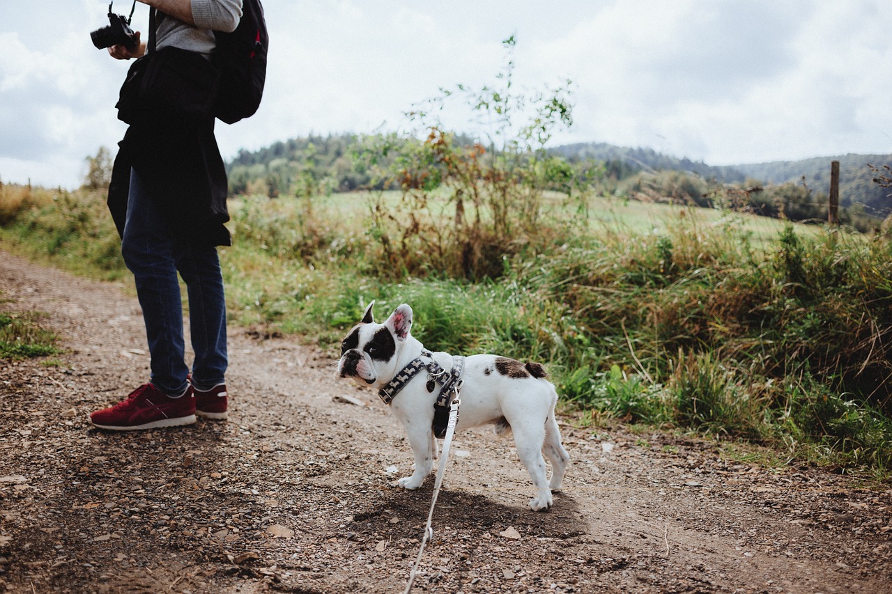
<path fill-rule="evenodd" d="M 121 253 L 136 279 L 152 355 L 152 384 L 170 395 L 186 390 L 189 368 L 177 272 L 189 298 L 194 383 L 209 388 L 222 383 L 227 369 L 226 296 L 217 248 L 171 235 L 135 170 L 130 172 Z"/>

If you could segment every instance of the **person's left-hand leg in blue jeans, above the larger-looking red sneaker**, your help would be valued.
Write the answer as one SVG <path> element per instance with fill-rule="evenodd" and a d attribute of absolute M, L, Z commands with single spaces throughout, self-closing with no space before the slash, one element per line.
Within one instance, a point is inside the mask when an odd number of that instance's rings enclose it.
<path fill-rule="evenodd" d="M 150 382 L 169 395 L 186 390 L 183 308 L 173 241 L 145 184 L 131 172 L 121 253 L 136 281 L 152 356 Z"/>

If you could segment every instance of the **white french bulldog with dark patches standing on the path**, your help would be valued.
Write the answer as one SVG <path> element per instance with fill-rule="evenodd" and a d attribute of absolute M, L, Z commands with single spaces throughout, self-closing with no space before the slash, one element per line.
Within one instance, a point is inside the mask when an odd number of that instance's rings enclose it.
<path fill-rule="evenodd" d="M 343 339 L 338 375 L 380 391 L 417 358 L 434 359 L 442 369 L 450 370 L 452 357 L 448 353 L 426 351 L 410 334 L 412 308 L 409 305 L 403 303 L 394 309 L 384 324 L 376 324 L 374 306 L 375 301 L 369 303 L 359 324 Z M 495 425 L 497 434 L 514 433 L 517 455 L 536 489 L 536 497 L 530 501 L 533 511 L 549 510 L 551 491 L 560 490 L 570 460 L 561 444 L 555 419 L 558 392 L 545 375 L 538 363 L 524 365 L 496 355 L 467 357 L 461 375 L 456 425 L 457 432 L 491 424 Z M 432 426 L 440 386 L 433 384 L 423 370 L 390 402 L 390 408 L 406 430 L 415 458 L 414 472 L 398 483 L 403 489 L 419 488 L 434 468 L 437 442 Z M 546 478 L 543 454 L 551 462 L 550 481 Z"/>

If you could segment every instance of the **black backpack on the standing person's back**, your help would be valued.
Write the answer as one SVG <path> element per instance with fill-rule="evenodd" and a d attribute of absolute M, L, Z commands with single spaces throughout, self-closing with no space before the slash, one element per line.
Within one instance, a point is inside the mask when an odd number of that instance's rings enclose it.
<path fill-rule="evenodd" d="M 214 31 L 219 68 L 215 115 L 227 124 L 251 117 L 260 107 L 267 78 L 269 36 L 260 0 L 244 0 L 242 20 L 232 33 Z"/>

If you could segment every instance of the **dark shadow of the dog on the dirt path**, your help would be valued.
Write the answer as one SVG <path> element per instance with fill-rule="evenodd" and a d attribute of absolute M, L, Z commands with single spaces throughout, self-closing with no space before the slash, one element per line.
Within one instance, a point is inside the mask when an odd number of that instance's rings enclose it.
<path fill-rule="evenodd" d="M 431 507 L 433 489 L 379 491 L 368 508 L 357 508 L 351 529 L 361 533 L 389 534 L 392 538 L 417 539 L 423 534 Z M 440 491 L 434 508 L 434 532 L 449 527 L 473 536 L 492 535 L 509 526 L 524 537 L 568 539 L 586 533 L 588 521 L 566 492 L 555 492 L 549 512 L 534 512 L 525 506 L 508 506 L 484 495 L 462 491 Z"/>

